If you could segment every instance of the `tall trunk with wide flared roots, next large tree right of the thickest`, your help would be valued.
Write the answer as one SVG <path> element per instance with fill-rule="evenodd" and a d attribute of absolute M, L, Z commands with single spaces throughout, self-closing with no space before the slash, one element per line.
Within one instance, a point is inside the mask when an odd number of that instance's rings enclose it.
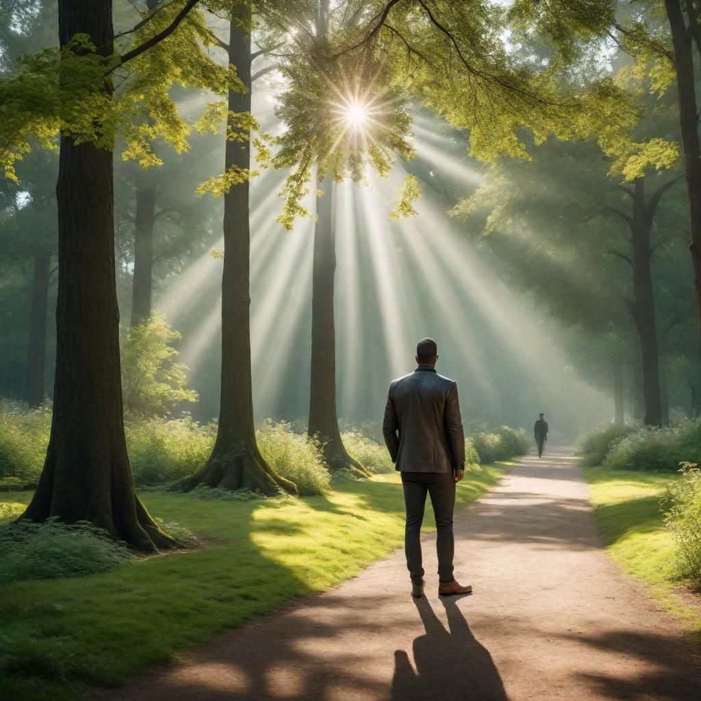
<path fill-rule="evenodd" d="M 229 62 L 245 86 L 245 93 L 229 92 L 230 113 L 251 111 L 250 8 L 238 6 L 229 34 Z M 229 126 L 240 126 L 229 116 Z M 250 139 L 226 142 L 226 169 L 249 168 Z M 249 184 L 233 186 L 224 195 L 224 272 L 222 276 L 222 398 L 219 428 L 212 455 L 191 477 L 174 489 L 188 491 L 198 484 L 225 489 L 256 489 L 275 494 L 284 489 L 297 494 L 297 486 L 278 475 L 261 456 L 253 424 L 250 339 L 250 229 Z"/>

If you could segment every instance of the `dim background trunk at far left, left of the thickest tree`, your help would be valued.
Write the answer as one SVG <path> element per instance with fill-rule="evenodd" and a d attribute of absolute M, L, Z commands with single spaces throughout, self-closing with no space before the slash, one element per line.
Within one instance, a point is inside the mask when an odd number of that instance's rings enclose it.
<path fill-rule="evenodd" d="M 44 358 L 46 357 L 46 306 L 51 256 L 48 252 L 34 256 L 32 308 L 29 313 L 29 343 L 25 371 L 25 399 L 30 407 L 38 407 L 44 398 Z"/>

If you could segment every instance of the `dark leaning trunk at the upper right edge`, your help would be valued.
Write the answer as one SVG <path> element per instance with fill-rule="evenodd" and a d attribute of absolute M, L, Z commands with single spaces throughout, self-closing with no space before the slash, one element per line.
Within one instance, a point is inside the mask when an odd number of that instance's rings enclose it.
<path fill-rule="evenodd" d="M 701 320 L 701 146 L 698 133 L 692 34 L 686 27 L 679 0 L 665 0 L 674 46 L 676 94 L 679 101 L 679 127 L 684 156 L 684 174 L 689 206 L 691 243 L 689 250 L 694 271 L 696 304 Z M 701 325 L 700 349 L 701 349 Z"/>

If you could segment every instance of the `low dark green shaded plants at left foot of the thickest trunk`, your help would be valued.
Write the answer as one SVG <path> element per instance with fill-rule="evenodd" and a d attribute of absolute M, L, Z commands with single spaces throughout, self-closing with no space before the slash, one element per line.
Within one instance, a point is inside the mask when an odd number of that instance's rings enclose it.
<path fill-rule="evenodd" d="M 21 521 L 0 531 L 0 581 L 81 577 L 129 562 L 133 555 L 88 522 Z"/>

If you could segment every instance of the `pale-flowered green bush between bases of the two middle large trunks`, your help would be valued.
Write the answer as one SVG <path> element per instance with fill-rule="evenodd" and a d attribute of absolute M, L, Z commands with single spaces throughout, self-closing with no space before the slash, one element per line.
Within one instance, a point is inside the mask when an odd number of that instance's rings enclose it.
<path fill-rule="evenodd" d="M 256 431 L 258 447 L 271 468 L 297 484 L 299 494 L 323 494 L 331 487 L 331 476 L 322 462 L 316 442 L 294 433 L 285 421 L 268 419 Z"/>

